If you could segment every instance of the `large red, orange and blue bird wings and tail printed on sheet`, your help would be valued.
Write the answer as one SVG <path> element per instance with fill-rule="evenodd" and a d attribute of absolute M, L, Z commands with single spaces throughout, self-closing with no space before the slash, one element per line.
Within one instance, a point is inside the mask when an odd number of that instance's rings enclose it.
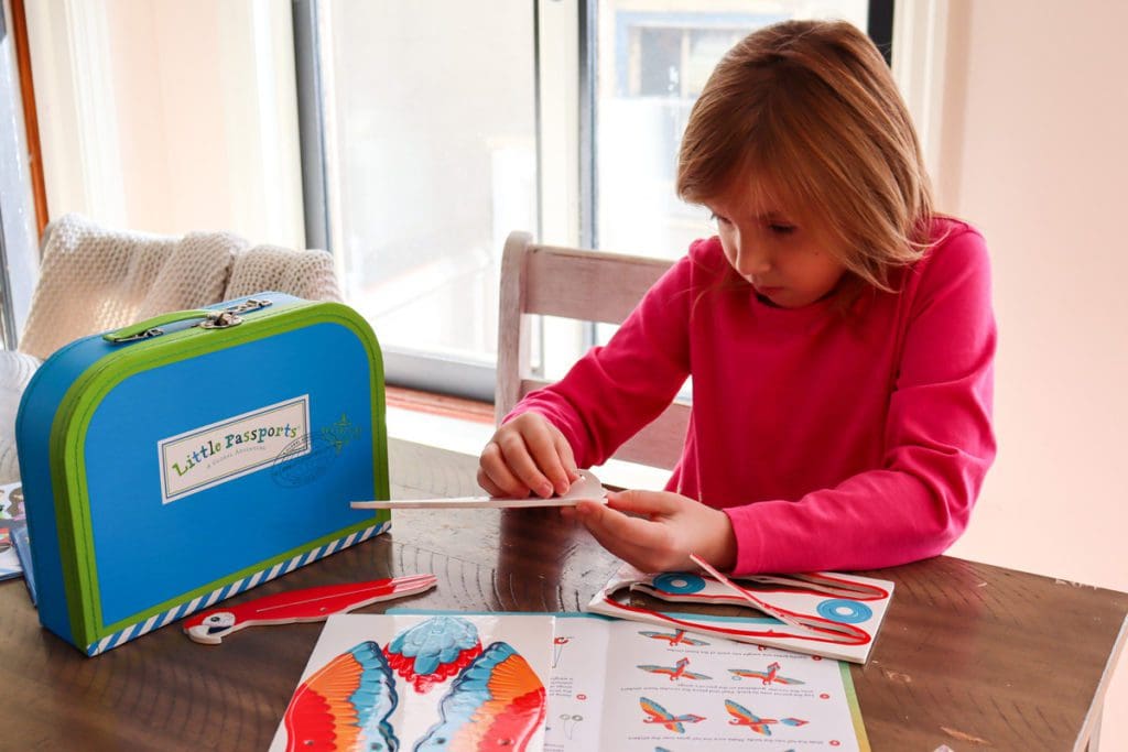
<path fill-rule="evenodd" d="M 483 649 L 469 620 L 433 617 L 395 635 L 384 649 L 361 642 L 303 681 L 283 717 L 287 750 L 402 749 L 393 725 L 405 697 L 397 674 L 418 696 L 455 678 L 413 752 L 477 749 L 481 740 L 526 750 L 545 717 L 545 687 L 509 643 Z"/>

